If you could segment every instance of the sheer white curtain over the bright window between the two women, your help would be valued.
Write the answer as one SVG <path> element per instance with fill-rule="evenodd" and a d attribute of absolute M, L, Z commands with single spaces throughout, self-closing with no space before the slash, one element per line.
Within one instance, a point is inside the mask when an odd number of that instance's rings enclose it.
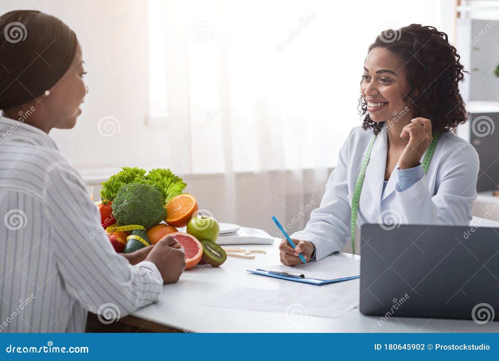
<path fill-rule="evenodd" d="M 166 109 L 172 168 L 213 178 L 224 221 L 301 227 L 360 125 L 368 45 L 435 24 L 435 3 L 150 0 L 151 115 Z"/>

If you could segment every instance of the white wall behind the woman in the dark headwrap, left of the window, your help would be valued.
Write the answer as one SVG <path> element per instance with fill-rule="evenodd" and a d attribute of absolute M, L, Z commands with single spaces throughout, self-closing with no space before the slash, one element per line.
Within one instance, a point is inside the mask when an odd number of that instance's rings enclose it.
<path fill-rule="evenodd" d="M 50 133 L 71 164 L 85 177 L 90 173 L 95 175 L 96 171 L 100 171 L 99 177 L 105 176 L 110 173 L 106 169 L 109 167 L 138 164 L 166 167 L 167 155 L 170 154 L 170 149 L 162 141 L 166 129 L 145 125 L 149 108 L 147 1 L 0 2 L 0 13 L 22 8 L 40 9 L 59 17 L 76 32 L 83 49 L 88 71 L 86 82 L 90 89 L 83 113 L 73 129 Z M 123 20 L 119 21 L 120 18 Z M 121 24 L 114 29 L 112 24 L 116 22 Z M 101 37 L 104 40 L 96 45 Z M 98 132 L 97 123 L 108 115 L 116 117 L 121 127 L 118 134 L 103 137 Z M 145 149 L 135 146 L 134 139 L 147 139 L 158 146 Z"/>

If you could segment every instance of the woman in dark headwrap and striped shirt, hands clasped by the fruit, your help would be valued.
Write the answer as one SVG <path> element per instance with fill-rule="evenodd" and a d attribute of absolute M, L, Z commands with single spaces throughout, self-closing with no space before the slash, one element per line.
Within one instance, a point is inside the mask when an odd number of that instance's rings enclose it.
<path fill-rule="evenodd" d="M 48 135 L 69 129 L 88 88 L 75 33 L 40 11 L 0 16 L 0 332 L 83 332 L 87 311 L 121 317 L 177 282 L 167 237 L 117 254 L 85 182 Z"/>

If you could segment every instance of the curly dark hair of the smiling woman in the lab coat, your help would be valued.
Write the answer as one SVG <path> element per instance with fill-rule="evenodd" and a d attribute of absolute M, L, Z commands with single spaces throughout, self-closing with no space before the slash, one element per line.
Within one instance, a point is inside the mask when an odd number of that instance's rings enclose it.
<path fill-rule="evenodd" d="M 383 31 L 369 46 L 368 53 L 376 47 L 390 50 L 404 63 L 410 84 L 405 101 L 415 104 L 413 118 L 430 119 L 433 132 L 446 132 L 468 120 L 459 92 L 459 81 L 467 71 L 445 32 L 433 26 L 411 24 Z M 417 92 L 419 95 L 415 96 Z M 364 116 L 362 128 L 378 134 L 381 123 L 371 120 L 362 96 L 359 111 Z"/>

